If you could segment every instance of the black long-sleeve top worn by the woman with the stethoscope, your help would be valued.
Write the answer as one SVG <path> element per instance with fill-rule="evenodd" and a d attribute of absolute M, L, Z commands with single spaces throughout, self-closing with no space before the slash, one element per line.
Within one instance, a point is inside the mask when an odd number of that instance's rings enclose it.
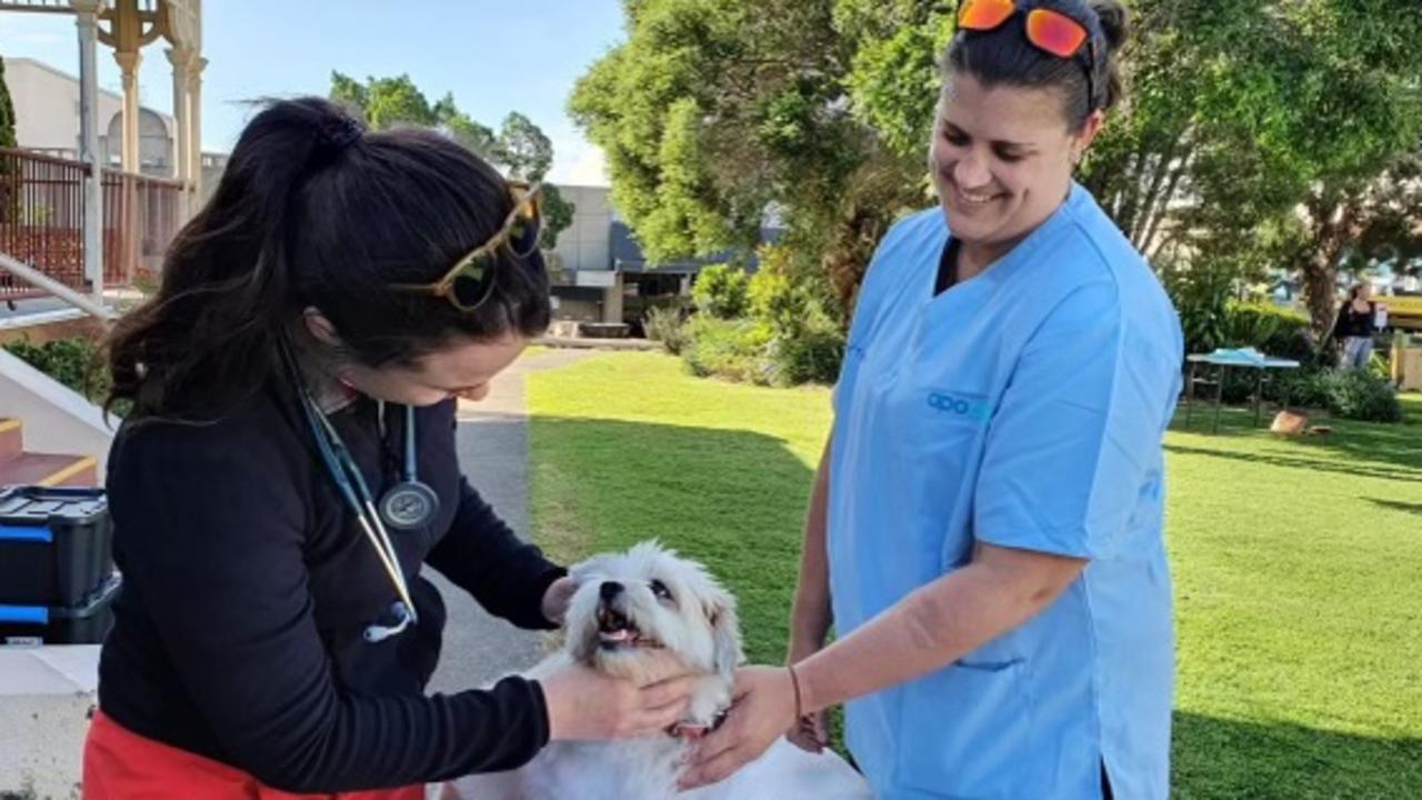
<path fill-rule="evenodd" d="M 547 742 L 538 683 L 425 696 L 445 621 L 429 564 L 492 614 L 547 628 L 565 572 L 520 542 L 461 475 L 455 403 L 417 416 L 434 522 L 391 531 L 418 626 L 380 643 L 398 595 L 317 457 L 294 396 L 272 387 L 216 424 L 125 424 L 108 465 L 124 574 L 100 660 L 121 726 L 287 791 L 348 791 L 516 767 Z M 371 491 L 400 477 L 404 414 L 331 416 Z"/>

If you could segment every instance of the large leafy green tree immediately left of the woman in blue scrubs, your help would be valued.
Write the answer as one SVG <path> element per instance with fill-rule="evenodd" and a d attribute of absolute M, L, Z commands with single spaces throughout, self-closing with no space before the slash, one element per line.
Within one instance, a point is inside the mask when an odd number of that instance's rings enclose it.
<path fill-rule="evenodd" d="M 579 80 L 570 108 L 607 152 L 613 199 L 653 263 L 748 258 L 774 212 L 781 256 L 848 317 L 879 235 L 924 196 L 921 149 L 902 158 L 850 108 L 855 38 L 836 6 L 624 1 L 627 41 Z"/>

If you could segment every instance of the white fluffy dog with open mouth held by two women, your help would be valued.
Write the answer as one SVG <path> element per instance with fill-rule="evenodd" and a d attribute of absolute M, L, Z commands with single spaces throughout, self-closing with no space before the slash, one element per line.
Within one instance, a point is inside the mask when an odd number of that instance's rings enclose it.
<path fill-rule="evenodd" d="M 573 568 L 579 589 L 560 652 L 526 673 L 539 678 L 577 660 L 609 675 L 665 675 L 665 662 L 701 675 L 685 729 L 715 726 L 731 703 L 741 663 L 735 601 L 700 564 L 656 542 Z M 732 712 L 734 713 L 734 712 Z M 729 779 L 677 793 L 681 756 L 693 742 L 657 733 L 613 742 L 552 742 L 523 767 L 469 776 L 447 797 L 465 800 L 873 800 L 839 756 L 812 754 L 784 737 Z"/>

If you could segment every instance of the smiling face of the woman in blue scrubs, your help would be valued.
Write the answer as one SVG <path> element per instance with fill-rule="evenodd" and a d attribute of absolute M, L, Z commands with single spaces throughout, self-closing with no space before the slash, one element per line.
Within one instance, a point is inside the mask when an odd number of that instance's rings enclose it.
<path fill-rule="evenodd" d="M 1098 111 L 1072 131 L 1059 90 L 985 85 L 951 73 L 929 165 L 953 235 L 1001 255 L 1031 233 L 1065 199 L 1101 118 Z"/>

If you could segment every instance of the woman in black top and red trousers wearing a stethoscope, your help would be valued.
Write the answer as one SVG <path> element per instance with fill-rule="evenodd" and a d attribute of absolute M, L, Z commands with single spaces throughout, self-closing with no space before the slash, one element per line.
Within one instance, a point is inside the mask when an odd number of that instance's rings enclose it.
<path fill-rule="evenodd" d="M 523 628 L 553 628 L 573 589 L 454 448 L 456 397 L 549 322 L 538 233 L 536 196 L 439 134 L 367 134 L 314 98 L 250 122 L 111 343 L 109 403 L 132 406 L 108 471 L 125 589 L 87 797 L 417 797 L 678 717 L 685 679 L 582 668 L 424 695 L 444 605 L 422 564 Z M 408 495 L 371 517 L 346 494 L 415 481 L 434 498 L 412 515 Z"/>

